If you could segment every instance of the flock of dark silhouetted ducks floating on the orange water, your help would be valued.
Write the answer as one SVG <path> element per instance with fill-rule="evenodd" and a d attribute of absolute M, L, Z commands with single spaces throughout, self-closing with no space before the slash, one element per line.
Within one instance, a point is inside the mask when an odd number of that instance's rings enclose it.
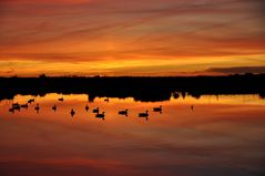
<path fill-rule="evenodd" d="M 60 97 L 60 99 L 58 99 L 58 101 L 59 101 L 59 102 L 63 102 L 64 100 L 63 100 L 63 97 Z M 109 102 L 109 99 L 105 99 L 104 101 L 105 101 L 105 102 Z M 20 111 L 21 108 L 28 108 L 28 107 L 29 107 L 29 104 L 31 104 L 31 103 L 33 103 L 33 102 L 35 102 L 34 99 L 28 100 L 28 103 L 26 103 L 26 104 L 12 103 L 12 107 L 9 108 L 9 112 L 14 113 L 14 111 Z M 58 107 L 57 107 L 57 105 L 53 105 L 51 108 L 55 112 Z M 84 110 L 88 112 L 89 108 L 90 108 L 90 107 L 89 107 L 89 105 L 86 104 L 85 107 L 84 107 Z M 39 111 L 40 111 L 40 105 L 39 105 L 39 103 L 37 103 L 34 110 L 37 111 L 37 113 L 39 113 Z M 159 113 L 162 114 L 162 106 L 160 105 L 160 106 L 157 106 L 157 107 L 153 107 L 153 112 L 159 112 Z M 93 110 L 92 110 L 92 113 L 95 114 L 95 117 L 105 120 L 105 112 L 100 112 L 100 108 L 99 108 L 99 107 L 93 108 Z M 72 110 L 70 111 L 70 114 L 71 114 L 71 116 L 73 117 L 73 116 L 75 115 L 75 111 L 72 108 Z M 126 108 L 126 110 L 121 110 L 121 111 L 118 112 L 118 114 L 119 114 L 119 115 L 128 116 L 128 115 L 129 115 L 129 110 L 128 110 L 128 108 Z M 139 113 L 139 117 L 144 117 L 144 118 L 146 118 L 146 121 L 147 121 L 147 120 L 149 120 L 149 110 L 146 110 L 145 112 Z"/>

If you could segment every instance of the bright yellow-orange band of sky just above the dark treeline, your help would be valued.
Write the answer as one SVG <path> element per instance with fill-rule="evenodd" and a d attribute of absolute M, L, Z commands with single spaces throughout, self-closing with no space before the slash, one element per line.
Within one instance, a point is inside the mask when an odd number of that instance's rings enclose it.
<path fill-rule="evenodd" d="M 236 59 L 234 59 L 236 58 Z M 80 61 L 80 62 L 47 62 L 32 60 L 0 61 L 1 75 L 38 76 L 47 75 L 185 75 L 213 74 L 204 73 L 208 68 L 227 66 L 256 66 L 264 65 L 264 55 L 252 55 L 251 60 L 244 60 L 245 55 L 216 56 L 216 58 L 190 58 L 185 60 L 110 60 L 110 61 Z M 12 69 L 16 70 L 12 71 Z"/>

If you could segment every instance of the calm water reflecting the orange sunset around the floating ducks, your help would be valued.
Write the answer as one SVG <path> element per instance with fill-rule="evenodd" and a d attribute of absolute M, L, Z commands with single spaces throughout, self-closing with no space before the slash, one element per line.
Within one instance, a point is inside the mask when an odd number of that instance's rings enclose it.
<path fill-rule="evenodd" d="M 9 112 L 29 99 L 0 102 L 1 176 L 265 174 L 265 100 L 257 95 L 91 103 L 88 95 L 48 94 L 28 110 Z M 162 114 L 153 112 L 160 105 Z M 95 107 L 105 112 L 104 121 L 92 113 Z M 128 117 L 118 114 L 125 108 Z M 147 121 L 139 117 L 145 110 Z"/>

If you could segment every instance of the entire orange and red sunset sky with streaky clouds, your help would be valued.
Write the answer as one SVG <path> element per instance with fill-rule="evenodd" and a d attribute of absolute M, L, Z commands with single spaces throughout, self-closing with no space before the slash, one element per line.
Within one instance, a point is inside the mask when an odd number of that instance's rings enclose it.
<path fill-rule="evenodd" d="M 1 0 L 0 76 L 265 72 L 264 0 Z"/>

